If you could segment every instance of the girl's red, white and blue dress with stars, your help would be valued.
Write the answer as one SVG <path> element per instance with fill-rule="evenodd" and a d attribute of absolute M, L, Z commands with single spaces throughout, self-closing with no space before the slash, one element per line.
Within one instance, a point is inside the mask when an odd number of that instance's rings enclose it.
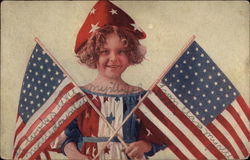
<path fill-rule="evenodd" d="M 138 93 L 110 95 L 95 93 L 83 89 L 84 93 L 92 100 L 96 107 L 106 117 L 107 121 L 113 128 L 118 128 L 125 117 L 139 102 L 146 91 Z M 82 113 L 73 120 L 65 130 L 67 139 L 62 144 L 62 152 L 64 146 L 69 142 L 75 142 L 78 150 L 88 156 L 94 157 L 98 150 L 103 148 L 103 145 L 112 134 L 112 130 L 105 124 L 91 106 L 85 106 Z M 126 143 L 135 142 L 138 140 L 146 140 L 147 130 L 141 123 L 140 119 L 133 114 L 128 121 L 122 126 L 118 134 Z M 153 156 L 157 151 L 165 149 L 165 145 L 154 144 L 151 151 L 145 153 L 145 158 Z M 108 146 L 101 153 L 99 159 L 129 159 L 124 152 L 124 146 L 120 143 L 117 137 L 113 138 Z"/>

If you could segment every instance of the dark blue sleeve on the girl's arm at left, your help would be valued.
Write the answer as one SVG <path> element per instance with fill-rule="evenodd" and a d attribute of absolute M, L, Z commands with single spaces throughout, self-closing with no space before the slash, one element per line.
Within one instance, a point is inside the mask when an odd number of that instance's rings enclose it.
<path fill-rule="evenodd" d="M 65 135 L 67 136 L 66 140 L 61 145 L 61 152 L 65 155 L 64 147 L 70 142 L 77 144 L 79 137 L 81 137 L 81 132 L 77 126 L 77 119 L 74 119 L 64 130 Z"/>

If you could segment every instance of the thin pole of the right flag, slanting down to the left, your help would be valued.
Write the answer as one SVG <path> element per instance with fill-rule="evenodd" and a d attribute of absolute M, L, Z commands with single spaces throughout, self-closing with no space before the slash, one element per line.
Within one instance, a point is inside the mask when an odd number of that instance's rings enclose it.
<path fill-rule="evenodd" d="M 178 56 L 175 58 L 174 62 L 171 63 L 170 65 L 168 65 L 163 72 L 161 73 L 161 75 L 159 76 L 159 78 L 149 87 L 148 91 L 145 93 L 145 95 L 140 99 L 140 101 L 137 103 L 137 105 L 131 110 L 131 112 L 126 116 L 126 118 L 123 120 L 122 124 L 116 129 L 115 132 L 113 132 L 113 134 L 109 137 L 108 141 L 104 144 L 103 148 L 101 150 L 99 150 L 98 154 L 96 155 L 96 157 L 94 159 L 96 159 L 101 152 L 105 149 L 105 147 L 108 145 L 108 143 L 113 139 L 113 137 L 118 133 L 118 131 L 121 129 L 121 127 L 125 124 L 125 122 L 131 117 L 131 115 L 139 108 L 139 106 L 141 105 L 142 101 L 151 93 L 153 87 L 160 82 L 160 80 L 163 78 L 163 76 L 166 74 L 167 71 L 169 71 L 169 69 L 175 64 L 175 62 L 179 59 L 179 57 L 181 57 L 184 53 L 184 51 L 193 43 L 195 39 L 195 35 L 193 35 L 189 41 L 182 47 L 182 49 L 180 50 L 180 52 L 178 53 Z"/>

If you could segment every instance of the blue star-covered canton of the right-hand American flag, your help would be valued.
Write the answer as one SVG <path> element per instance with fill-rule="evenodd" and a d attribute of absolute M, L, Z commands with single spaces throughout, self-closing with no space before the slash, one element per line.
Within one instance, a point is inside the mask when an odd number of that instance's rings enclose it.
<path fill-rule="evenodd" d="M 205 125 L 239 95 L 197 42 L 190 45 L 162 82 Z"/>

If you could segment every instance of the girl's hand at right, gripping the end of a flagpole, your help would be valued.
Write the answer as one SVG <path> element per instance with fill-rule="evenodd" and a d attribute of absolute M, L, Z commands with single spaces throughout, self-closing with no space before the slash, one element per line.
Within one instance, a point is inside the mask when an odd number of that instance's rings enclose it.
<path fill-rule="evenodd" d="M 130 143 L 128 148 L 125 150 L 127 155 L 132 159 L 142 159 L 144 156 L 144 153 L 149 152 L 151 150 L 152 146 L 150 143 L 139 140 L 133 143 Z"/>

